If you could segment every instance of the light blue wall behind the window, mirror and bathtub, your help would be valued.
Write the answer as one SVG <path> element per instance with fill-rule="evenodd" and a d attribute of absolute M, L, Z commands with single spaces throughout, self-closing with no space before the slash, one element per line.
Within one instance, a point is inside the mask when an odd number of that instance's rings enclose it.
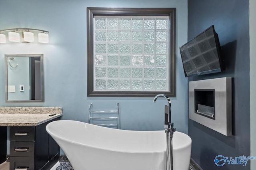
<path fill-rule="evenodd" d="M 164 105 L 153 97 L 87 97 L 86 8 L 176 8 L 176 97 L 172 121 L 188 132 L 187 79 L 178 47 L 187 42 L 186 0 L 0 0 L 0 30 L 48 30 L 48 44 L 0 44 L 0 106 L 63 107 L 62 119 L 88 122 L 90 103 L 95 109 L 114 109 L 120 103 L 120 127 L 129 130 L 164 129 Z M 7 40 L 8 41 L 8 40 Z M 5 103 L 4 54 L 44 54 L 45 102 Z"/>

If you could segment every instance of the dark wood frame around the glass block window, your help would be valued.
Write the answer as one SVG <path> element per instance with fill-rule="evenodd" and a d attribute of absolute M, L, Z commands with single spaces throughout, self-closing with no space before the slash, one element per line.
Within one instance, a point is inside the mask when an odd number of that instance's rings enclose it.
<path fill-rule="evenodd" d="M 94 16 L 169 16 L 169 91 L 94 91 L 93 18 Z M 154 97 L 166 94 L 176 97 L 176 8 L 87 8 L 87 96 L 88 97 Z"/>

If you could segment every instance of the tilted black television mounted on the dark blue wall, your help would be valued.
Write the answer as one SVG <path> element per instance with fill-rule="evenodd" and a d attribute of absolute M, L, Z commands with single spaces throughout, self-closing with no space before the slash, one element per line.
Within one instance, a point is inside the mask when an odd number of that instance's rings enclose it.
<path fill-rule="evenodd" d="M 185 76 L 217 73 L 223 70 L 220 42 L 214 26 L 180 47 Z"/>

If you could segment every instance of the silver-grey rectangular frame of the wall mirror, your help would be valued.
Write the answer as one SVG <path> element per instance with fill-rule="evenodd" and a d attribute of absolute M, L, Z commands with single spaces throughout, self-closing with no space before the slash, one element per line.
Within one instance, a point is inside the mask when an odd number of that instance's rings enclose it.
<path fill-rule="evenodd" d="M 8 100 L 8 57 L 40 57 L 41 67 L 41 100 Z M 44 54 L 5 54 L 5 101 L 6 103 L 44 102 Z"/>

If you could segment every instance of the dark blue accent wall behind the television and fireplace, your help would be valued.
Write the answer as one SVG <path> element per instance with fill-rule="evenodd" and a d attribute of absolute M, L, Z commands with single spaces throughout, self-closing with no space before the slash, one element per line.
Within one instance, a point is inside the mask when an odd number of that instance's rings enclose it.
<path fill-rule="evenodd" d="M 232 78 L 232 136 L 224 136 L 188 120 L 192 158 L 204 170 L 241 170 L 246 166 L 214 164 L 217 155 L 250 156 L 249 0 L 188 0 L 188 40 L 214 25 L 222 45 L 226 71 L 188 78 Z M 254 155 L 252 155 L 254 156 Z M 255 161 L 255 160 L 252 160 Z"/>

